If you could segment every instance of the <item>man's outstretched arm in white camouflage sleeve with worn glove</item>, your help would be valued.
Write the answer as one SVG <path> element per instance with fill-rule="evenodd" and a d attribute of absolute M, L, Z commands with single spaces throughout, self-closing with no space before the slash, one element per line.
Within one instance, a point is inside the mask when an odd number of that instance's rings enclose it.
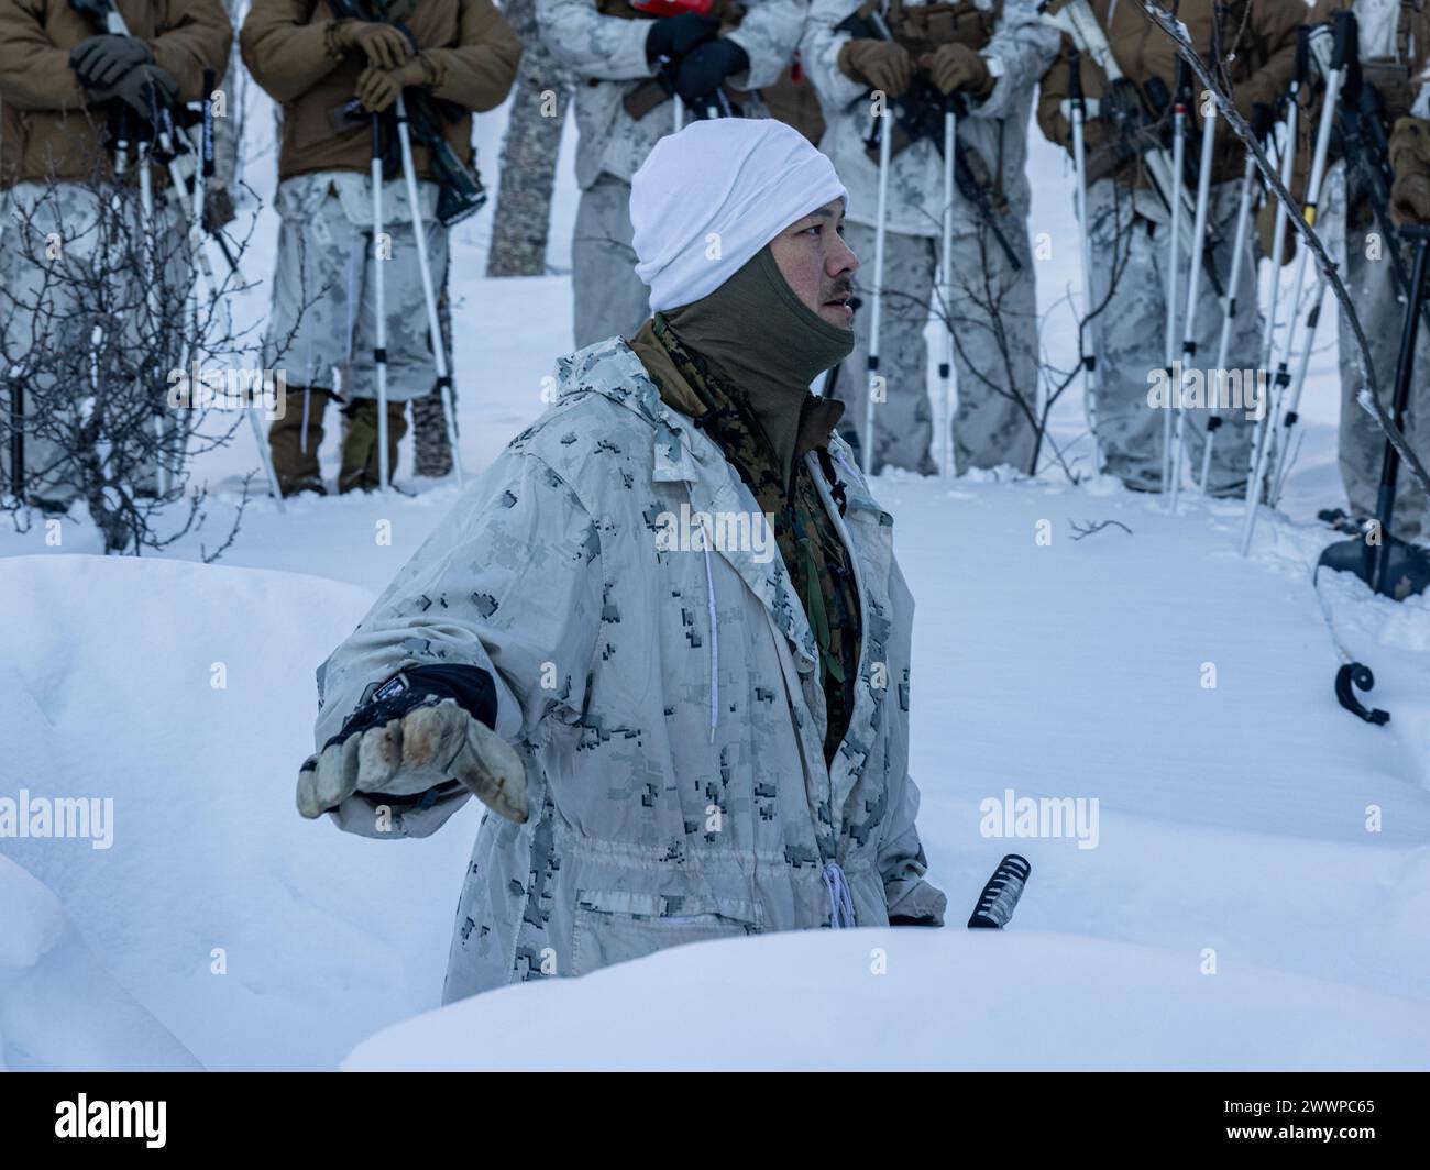
<path fill-rule="evenodd" d="M 493 738 L 516 744 L 533 738 L 548 715 L 579 718 L 602 598 L 601 538 L 591 513 L 545 462 L 508 449 L 319 668 L 317 749 L 332 752 L 353 718 L 369 724 L 363 731 L 372 739 L 336 752 L 352 757 L 329 765 L 340 768 L 336 780 L 320 764 L 300 780 L 302 811 L 335 812 L 342 828 L 366 835 L 426 835 L 469 790 L 503 811 L 462 764 L 490 771 L 502 758 Z M 379 688 L 403 672 L 419 698 L 433 677 L 442 684 L 416 712 L 416 738 L 408 727 L 415 715 L 400 697 L 398 712 L 366 714 L 383 701 Z M 416 759 L 406 758 L 409 748 L 420 748 Z M 456 768 L 443 774 L 448 761 Z M 380 778 L 378 791 L 355 784 L 360 768 Z M 453 775 L 463 788 L 445 784 Z M 402 832 L 375 830 L 373 810 L 393 795 L 416 798 L 409 801 L 416 807 L 405 807 Z"/>

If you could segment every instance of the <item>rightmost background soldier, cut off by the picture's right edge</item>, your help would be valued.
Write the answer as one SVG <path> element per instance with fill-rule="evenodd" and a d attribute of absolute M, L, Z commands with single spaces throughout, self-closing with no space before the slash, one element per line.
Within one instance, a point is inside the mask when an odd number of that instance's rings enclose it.
<path fill-rule="evenodd" d="M 1366 340 L 1376 363 L 1376 383 L 1381 405 L 1390 411 L 1396 363 L 1400 356 L 1400 332 L 1404 325 L 1404 300 L 1391 267 L 1390 249 L 1399 240 L 1379 240 L 1376 195 L 1366 182 L 1367 173 L 1389 162 L 1390 215 L 1396 223 L 1430 223 L 1430 7 L 1424 4 L 1347 3 L 1321 0 L 1307 23 L 1330 20 L 1337 11 L 1356 13 L 1360 43 L 1361 84 L 1373 87 L 1380 102 L 1379 127 L 1371 133 L 1389 140 L 1389 160 L 1371 159 L 1370 169 L 1347 167 L 1346 173 L 1346 267 L 1343 279 L 1356 305 Z M 1318 116 L 1320 106 L 1316 107 Z M 1314 116 L 1313 116 L 1314 117 Z M 1314 124 L 1314 120 L 1311 120 Z M 1334 140 L 1333 140 L 1334 143 Z M 1371 153 L 1373 143 L 1367 143 Z M 1301 137 L 1301 170 L 1307 167 L 1310 143 Z M 1300 192 L 1293 190 L 1293 195 Z M 1380 197 L 1384 197 L 1384 192 Z M 1383 209 L 1384 210 L 1384 209 Z M 1409 273 L 1409 260 L 1406 272 Z M 1356 405 L 1356 395 L 1366 385 L 1360 372 L 1360 346 L 1344 313 L 1340 320 L 1340 472 L 1354 521 L 1376 515 L 1380 488 L 1380 463 L 1386 436 L 1376 421 Z M 1430 329 L 1420 323 L 1416 369 L 1410 380 L 1410 405 L 1406 411 L 1406 438 L 1421 458 L 1430 456 Z M 1401 473 L 1396 485 L 1394 535 L 1403 541 L 1430 541 L 1430 508 L 1416 476 Z"/>

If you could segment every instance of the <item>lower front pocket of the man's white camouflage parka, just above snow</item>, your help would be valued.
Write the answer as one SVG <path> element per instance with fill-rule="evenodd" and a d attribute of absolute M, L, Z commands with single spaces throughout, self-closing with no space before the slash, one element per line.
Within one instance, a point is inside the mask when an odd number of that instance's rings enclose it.
<path fill-rule="evenodd" d="M 648 954 L 764 931 L 764 908 L 746 898 L 578 890 L 572 971 L 585 975 Z"/>

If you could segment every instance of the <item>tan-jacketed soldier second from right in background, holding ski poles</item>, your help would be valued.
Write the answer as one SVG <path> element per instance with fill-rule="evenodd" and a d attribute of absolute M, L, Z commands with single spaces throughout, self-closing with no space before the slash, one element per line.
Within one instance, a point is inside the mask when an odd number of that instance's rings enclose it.
<path fill-rule="evenodd" d="M 1157 29 L 1135 4 L 1090 0 L 1093 14 L 1107 31 L 1113 56 L 1127 74 L 1125 84 L 1108 93 L 1103 70 L 1081 54 L 1083 92 L 1088 99 L 1087 123 L 1087 213 L 1084 232 L 1091 233 L 1093 353 L 1098 370 L 1097 441 L 1105 471 L 1128 488 L 1160 492 L 1163 479 L 1163 409 L 1148 402 L 1150 375 L 1167 369 L 1167 262 L 1171 216 L 1147 179 L 1141 149 L 1147 139 L 1170 143 L 1163 133 L 1171 123 L 1177 51 L 1171 37 Z M 1108 13 L 1111 10 L 1111 20 Z M 1286 93 L 1296 67 L 1296 29 L 1306 21 L 1301 0 L 1234 0 L 1223 7 L 1213 0 L 1183 0 L 1177 9 L 1203 59 L 1213 57 L 1213 24 L 1221 14 L 1221 66 L 1231 82 L 1237 112 L 1253 126 L 1270 127 L 1273 107 Z M 1051 142 L 1072 152 L 1068 114 L 1068 66 L 1071 44 L 1064 43 L 1058 60 L 1042 79 L 1038 124 Z M 1165 96 L 1158 112 L 1157 94 Z M 1098 117 L 1091 116 L 1093 99 Z M 1114 110 L 1134 109 L 1145 123 L 1157 123 L 1143 140 L 1133 143 L 1114 129 Z M 1201 102 L 1190 103 L 1187 156 L 1195 167 L 1201 139 Z M 1170 154 L 1170 152 L 1168 152 Z M 1241 192 L 1240 177 L 1246 147 L 1218 120 L 1211 163 L 1207 209 L 1207 246 L 1197 298 L 1195 352 L 1214 360 L 1221 336 L 1224 306 L 1207 270 L 1223 285 L 1231 272 L 1231 249 Z M 1190 183 L 1194 190 L 1194 183 Z M 1185 220 L 1185 213 L 1184 213 Z M 1190 257 L 1181 252 L 1178 277 L 1177 349 L 1181 352 Z M 1243 265 L 1237 287 L 1230 295 L 1243 306 L 1236 318 L 1227 350 L 1227 368 L 1254 370 L 1261 365 L 1261 326 L 1251 306 L 1257 303 L 1256 266 Z M 1208 376 L 1207 385 L 1216 385 Z M 1211 406 L 1185 411 L 1187 451 L 1191 466 L 1200 468 Z M 1207 492 L 1241 496 L 1250 476 L 1254 423 L 1246 411 L 1220 415 L 1223 426 L 1213 442 Z"/>

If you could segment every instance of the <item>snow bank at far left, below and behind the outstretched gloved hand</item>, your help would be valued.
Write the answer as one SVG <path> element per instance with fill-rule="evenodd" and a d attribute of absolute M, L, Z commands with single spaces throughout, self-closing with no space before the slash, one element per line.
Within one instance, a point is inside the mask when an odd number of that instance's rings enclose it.
<path fill-rule="evenodd" d="M 56 555 L 0 561 L 0 795 L 114 802 L 109 850 L 0 841 L 64 904 L 90 967 L 210 1068 L 330 1068 L 363 1036 L 438 1001 L 475 820 L 416 851 L 346 838 L 293 807 L 312 749 L 313 668 L 359 621 L 365 591 Z M 33 901 L 0 897 L 6 953 L 43 921 Z M 82 990 L 76 970 L 37 968 L 19 1000 L 6 990 L 3 1031 L 90 1067 L 83 1048 L 60 1044 L 69 1024 L 49 1011 Z M 112 1030 L 126 1018 L 116 1011 Z M 177 1046 L 146 1047 L 144 1034 L 133 1031 L 136 1060 L 189 1060 Z"/>

